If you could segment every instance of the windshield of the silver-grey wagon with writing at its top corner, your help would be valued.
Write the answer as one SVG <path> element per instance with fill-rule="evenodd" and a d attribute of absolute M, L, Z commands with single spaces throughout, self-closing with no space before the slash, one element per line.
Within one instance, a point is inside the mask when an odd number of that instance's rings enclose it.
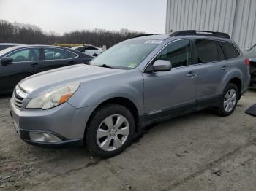
<path fill-rule="evenodd" d="M 121 42 L 99 55 L 90 64 L 116 69 L 134 69 L 161 42 L 159 40 L 128 40 Z"/>

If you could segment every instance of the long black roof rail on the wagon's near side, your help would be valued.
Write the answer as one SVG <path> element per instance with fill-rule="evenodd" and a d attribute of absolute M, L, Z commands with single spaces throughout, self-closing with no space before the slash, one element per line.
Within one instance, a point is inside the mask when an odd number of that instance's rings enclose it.
<path fill-rule="evenodd" d="M 172 34 L 169 34 L 169 36 L 187 36 L 187 35 L 216 36 L 220 38 L 230 39 L 229 34 L 214 32 L 214 31 L 187 30 L 187 31 L 175 31 Z"/>

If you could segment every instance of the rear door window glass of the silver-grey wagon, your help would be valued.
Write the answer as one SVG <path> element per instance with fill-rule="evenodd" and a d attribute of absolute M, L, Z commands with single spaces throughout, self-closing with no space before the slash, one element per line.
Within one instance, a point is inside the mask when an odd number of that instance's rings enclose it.
<path fill-rule="evenodd" d="M 195 40 L 198 63 L 222 61 L 225 59 L 219 42 L 213 40 Z"/>

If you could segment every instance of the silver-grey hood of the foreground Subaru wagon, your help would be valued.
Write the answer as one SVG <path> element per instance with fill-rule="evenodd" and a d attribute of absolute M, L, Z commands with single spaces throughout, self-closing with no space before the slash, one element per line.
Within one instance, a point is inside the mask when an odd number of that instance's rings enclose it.
<path fill-rule="evenodd" d="M 64 85 L 88 82 L 124 72 L 127 71 L 77 64 L 34 74 L 20 81 L 18 86 L 26 91 L 30 98 L 33 98 L 36 95 L 48 93 L 50 90 L 55 90 Z"/>

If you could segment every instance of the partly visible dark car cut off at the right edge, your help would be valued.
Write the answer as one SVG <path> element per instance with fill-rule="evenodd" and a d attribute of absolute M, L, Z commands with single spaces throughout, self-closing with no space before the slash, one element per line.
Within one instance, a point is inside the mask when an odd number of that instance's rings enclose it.
<path fill-rule="evenodd" d="M 250 59 L 251 85 L 256 88 L 256 44 L 246 51 L 246 57 Z"/>

